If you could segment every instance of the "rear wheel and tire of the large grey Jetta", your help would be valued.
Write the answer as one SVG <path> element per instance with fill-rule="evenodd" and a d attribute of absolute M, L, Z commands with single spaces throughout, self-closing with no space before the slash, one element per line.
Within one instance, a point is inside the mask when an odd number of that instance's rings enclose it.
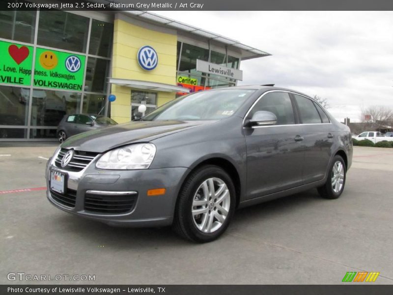
<path fill-rule="evenodd" d="M 336 155 L 333 158 L 332 164 L 329 168 L 329 174 L 326 183 L 318 187 L 319 195 L 325 199 L 337 199 L 344 190 L 345 180 L 345 162 L 341 156 Z"/>

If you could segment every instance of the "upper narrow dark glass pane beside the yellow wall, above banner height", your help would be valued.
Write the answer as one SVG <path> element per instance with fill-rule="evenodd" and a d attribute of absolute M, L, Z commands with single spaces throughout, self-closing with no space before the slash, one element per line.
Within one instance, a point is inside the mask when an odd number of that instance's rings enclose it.
<path fill-rule="evenodd" d="M 89 54 L 107 57 L 111 55 L 113 24 L 93 20 L 91 23 Z"/>

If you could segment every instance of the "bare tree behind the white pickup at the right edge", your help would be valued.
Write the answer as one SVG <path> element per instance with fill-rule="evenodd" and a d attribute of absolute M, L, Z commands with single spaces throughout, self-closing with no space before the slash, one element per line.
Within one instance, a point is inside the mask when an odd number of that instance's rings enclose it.
<path fill-rule="evenodd" d="M 393 124 L 393 109 L 386 106 L 369 106 L 362 109 L 361 121 L 370 123 L 376 129 Z"/>

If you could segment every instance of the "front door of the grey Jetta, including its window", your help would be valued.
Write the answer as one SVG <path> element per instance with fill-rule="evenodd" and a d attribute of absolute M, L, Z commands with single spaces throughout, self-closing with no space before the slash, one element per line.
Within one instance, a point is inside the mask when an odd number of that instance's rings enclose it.
<path fill-rule="evenodd" d="M 272 126 L 245 127 L 247 146 L 247 199 L 268 195 L 302 184 L 304 147 L 288 92 L 270 91 L 253 105 L 246 119 L 256 111 L 277 116 Z"/>

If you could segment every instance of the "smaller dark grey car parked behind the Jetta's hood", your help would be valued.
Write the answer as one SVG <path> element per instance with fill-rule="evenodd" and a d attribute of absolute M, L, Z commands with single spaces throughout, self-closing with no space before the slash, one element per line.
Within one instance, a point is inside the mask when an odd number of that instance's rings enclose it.
<path fill-rule="evenodd" d="M 57 140 L 65 141 L 69 136 L 94 130 L 97 128 L 116 125 L 111 118 L 94 114 L 72 114 L 62 118 L 57 126 Z"/>

